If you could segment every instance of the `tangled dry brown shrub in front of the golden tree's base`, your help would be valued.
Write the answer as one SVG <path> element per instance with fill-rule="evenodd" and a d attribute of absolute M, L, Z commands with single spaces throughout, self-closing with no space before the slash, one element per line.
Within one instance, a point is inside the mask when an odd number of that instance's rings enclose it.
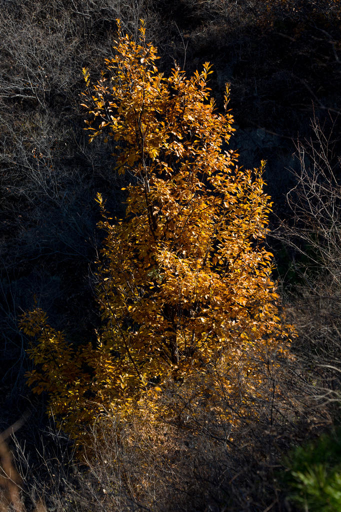
<path fill-rule="evenodd" d="M 205 396 L 200 386 L 196 392 L 178 382 L 157 393 L 157 407 L 151 409 L 150 400 L 141 403 L 139 417 L 129 423 L 120 422 L 115 411 L 104 413 L 92 431 L 79 506 L 283 510 L 275 473 L 283 471 L 279 457 L 290 443 L 302 442 L 310 423 L 325 424 L 328 414 L 316 407 L 295 361 L 266 361 L 264 373 L 267 383 L 254 395 L 240 381 L 239 399 L 231 400 L 226 375 L 214 369 Z"/>

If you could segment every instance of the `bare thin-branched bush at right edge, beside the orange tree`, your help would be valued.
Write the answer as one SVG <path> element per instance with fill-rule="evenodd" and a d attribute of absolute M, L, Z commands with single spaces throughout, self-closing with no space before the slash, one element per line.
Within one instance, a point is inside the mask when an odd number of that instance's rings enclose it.
<path fill-rule="evenodd" d="M 289 236 L 292 247 L 308 260 L 307 272 L 317 269 L 341 280 L 341 158 L 334 154 L 333 131 L 325 133 L 317 119 L 312 121 L 313 138 L 297 143 L 300 171 L 294 173 L 295 187 L 287 195 L 293 219 Z M 308 283 L 307 283 L 308 284 Z"/>

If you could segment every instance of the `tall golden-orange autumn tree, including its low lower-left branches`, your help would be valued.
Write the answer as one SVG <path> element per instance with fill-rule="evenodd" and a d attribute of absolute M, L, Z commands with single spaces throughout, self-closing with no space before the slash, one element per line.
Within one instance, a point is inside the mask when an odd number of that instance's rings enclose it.
<path fill-rule="evenodd" d="M 165 77 L 143 23 L 138 42 L 118 29 L 100 80 L 83 69 L 90 141 L 113 139 L 117 172 L 131 177 L 123 219 L 97 196 L 106 233 L 98 343 L 70 346 L 40 309 L 22 319 L 37 336 L 29 383 L 78 440 L 105 409 L 129 416 L 141 400 L 157 409 L 169 383 L 208 386 L 212 369 L 225 393 L 237 392 L 238 375 L 245 396 L 257 394 L 290 330 L 264 247 L 264 163 L 245 170 L 228 150 L 228 87 L 219 113 L 208 62 L 190 78 L 178 66 Z"/>

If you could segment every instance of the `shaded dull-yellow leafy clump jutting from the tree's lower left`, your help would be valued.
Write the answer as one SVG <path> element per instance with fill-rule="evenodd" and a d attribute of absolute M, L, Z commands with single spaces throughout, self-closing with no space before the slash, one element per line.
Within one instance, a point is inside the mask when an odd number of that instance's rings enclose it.
<path fill-rule="evenodd" d="M 119 364 L 113 364 L 109 347 L 100 340 L 72 347 L 65 335 L 47 323 L 40 308 L 25 313 L 20 327 L 35 343 L 28 350 L 35 368 L 28 373 L 34 393 L 48 393 L 48 414 L 67 430 L 77 443 L 89 438 L 89 425 L 106 411 L 111 400 L 124 400 L 126 411 L 132 402 L 126 375 Z M 110 383 L 110 392 L 108 386 Z"/>

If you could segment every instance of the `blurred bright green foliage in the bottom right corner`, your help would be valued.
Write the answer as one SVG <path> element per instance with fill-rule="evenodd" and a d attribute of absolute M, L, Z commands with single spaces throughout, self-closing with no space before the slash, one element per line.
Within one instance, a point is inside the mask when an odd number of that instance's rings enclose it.
<path fill-rule="evenodd" d="M 289 498 L 305 512 L 341 510 L 341 430 L 299 446 L 285 460 Z"/>

